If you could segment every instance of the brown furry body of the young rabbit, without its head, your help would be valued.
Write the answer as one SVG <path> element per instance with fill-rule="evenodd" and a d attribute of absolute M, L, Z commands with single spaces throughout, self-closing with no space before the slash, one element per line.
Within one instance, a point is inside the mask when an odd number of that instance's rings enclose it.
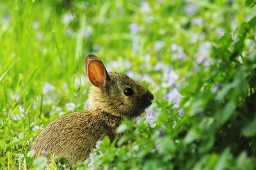
<path fill-rule="evenodd" d="M 115 138 L 116 127 L 121 118 L 102 110 L 70 113 L 51 122 L 42 131 L 32 149 L 35 153 L 44 151 L 55 154 L 56 159 L 65 157 L 70 165 L 88 157 L 90 150 L 104 136 Z"/>

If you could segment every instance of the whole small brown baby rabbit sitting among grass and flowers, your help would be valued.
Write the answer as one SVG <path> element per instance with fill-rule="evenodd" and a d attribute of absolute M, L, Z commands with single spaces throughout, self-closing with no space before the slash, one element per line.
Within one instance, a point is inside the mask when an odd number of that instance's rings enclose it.
<path fill-rule="evenodd" d="M 90 150 L 104 136 L 115 138 L 123 118 L 140 115 L 154 96 L 125 74 L 109 73 L 93 54 L 85 58 L 86 74 L 92 83 L 88 109 L 54 120 L 37 136 L 31 150 L 37 155 L 54 153 L 65 157 L 70 166 L 88 157 Z"/>

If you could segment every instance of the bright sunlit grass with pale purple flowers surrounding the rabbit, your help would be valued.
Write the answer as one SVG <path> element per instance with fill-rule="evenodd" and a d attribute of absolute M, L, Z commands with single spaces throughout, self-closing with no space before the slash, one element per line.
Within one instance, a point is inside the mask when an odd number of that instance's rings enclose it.
<path fill-rule="evenodd" d="M 211 46 L 256 15 L 244 1 L 97 1 L 87 10 L 86 4 L 77 6 L 77 13 L 59 15 L 47 1 L 0 2 L 0 169 L 33 166 L 28 152 L 42 128 L 86 107 L 87 53 L 96 53 L 109 71 L 127 73 L 154 93 L 155 103 L 141 116 L 148 125 L 154 126 L 157 112 L 164 111 L 175 113 L 178 121 L 184 114 L 180 90 L 211 64 Z M 151 134 L 143 135 L 138 140 Z M 40 166 L 47 160 L 36 161 Z M 52 161 L 49 167 L 58 166 Z"/>

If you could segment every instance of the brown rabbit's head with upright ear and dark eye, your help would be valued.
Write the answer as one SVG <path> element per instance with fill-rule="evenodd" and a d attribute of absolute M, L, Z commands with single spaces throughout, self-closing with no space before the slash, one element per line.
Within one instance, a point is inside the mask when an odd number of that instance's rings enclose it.
<path fill-rule="evenodd" d="M 132 118 L 150 106 L 154 96 L 126 74 L 109 73 L 93 54 L 85 58 L 86 74 L 92 83 L 88 108 L 100 109 L 120 118 Z"/>

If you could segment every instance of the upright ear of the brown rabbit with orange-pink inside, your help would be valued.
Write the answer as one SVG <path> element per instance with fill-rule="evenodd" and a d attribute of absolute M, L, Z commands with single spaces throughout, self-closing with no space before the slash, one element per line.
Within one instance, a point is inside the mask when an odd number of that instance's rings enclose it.
<path fill-rule="evenodd" d="M 108 72 L 102 61 L 93 54 L 85 57 L 86 74 L 95 87 L 100 87 L 108 80 Z"/>

